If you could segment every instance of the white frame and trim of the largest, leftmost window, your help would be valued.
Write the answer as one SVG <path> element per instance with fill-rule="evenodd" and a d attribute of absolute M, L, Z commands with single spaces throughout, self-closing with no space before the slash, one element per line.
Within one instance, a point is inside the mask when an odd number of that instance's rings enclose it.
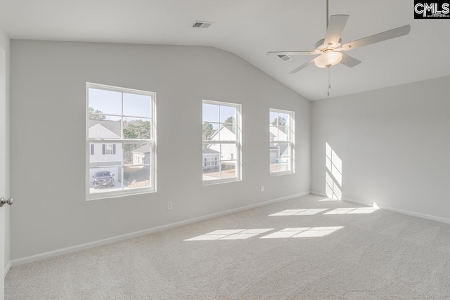
<path fill-rule="evenodd" d="M 150 139 L 143 140 L 143 139 L 124 139 L 123 138 L 123 124 L 121 126 L 122 132 L 121 136 L 122 138 L 120 140 L 117 139 L 107 139 L 107 138 L 89 138 L 89 89 L 103 89 L 106 91 L 117 91 L 120 93 L 134 93 L 139 94 L 143 96 L 151 96 L 152 97 L 152 103 L 151 103 L 151 112 L 152 115 L 150 116 L 151 119 L 151 126 L 150 126 Z M 123 101 L 122 101 L 123 106 Z M 123 112 L 123 107 L 122 107 Z M 129 115 L 110 115 L 105 114 L 108 116 L 113 117 L 139 117 L 139 116 L 129 116 Z M 139 91 L 135 89 L 127 89 L 127 88 L 120 88 L 117 86 L 107 86 L 104 84 L 94 84 L 90 82 L 86 82 L 86 147 L 85 147 L 85 154 L 86 154 L 86 181 L 85 181 L 85 195 L 86 195 L 86 201 L 90 200 L 101 200 L 101 199 L 108 199 L 108 198 L 115 198 L 115 197 L 124 197 L 129 195 L 141 195 L 141 194 L 147 194 L 147 193 L 154 193 L 156 192 L 156 93 L 150 92 L 150 91 Z M 117 141 L 120 141 L 120 143 L 150 143 L 150 148 L 152 149 L 150 162 L 150 178 L 151 178 L 151 187 L 147 188 L 136 188 L 132 190 L 115 190 L 111 192 L 103 192 L 103 193 L 90 193 L 90 156 L 91 156 L 91 146 L 90 143 L 117 143 Z M 122 158 L 123 159 L 123 158 Z M 122 166 L 108 166 L 108 167 L 122 167 Z M 122 168 L 123 173 L 123 168 Z"/>

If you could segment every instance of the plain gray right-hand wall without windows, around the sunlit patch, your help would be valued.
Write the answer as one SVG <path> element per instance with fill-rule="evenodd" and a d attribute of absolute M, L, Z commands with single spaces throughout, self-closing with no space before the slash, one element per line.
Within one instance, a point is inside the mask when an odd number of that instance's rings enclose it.
<path fill-rule="evenodd" d="M 326 143 L 342 197 L 450 221 L 450 77 L 311 103 L 311 191 L 325 193 Z"/>

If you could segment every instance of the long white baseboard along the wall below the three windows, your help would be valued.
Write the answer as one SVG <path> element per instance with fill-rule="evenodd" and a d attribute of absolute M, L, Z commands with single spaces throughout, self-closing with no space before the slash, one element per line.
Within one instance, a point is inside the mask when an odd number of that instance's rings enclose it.
<path fill-rule="evenodd" d="M 25 263 L 32 263 L 34 261 L 41 261 L 43 259 L 50 259 L 51 257 L 54 256 L 60 256 L 60 255 L 64 255 L 64 254 L 70 254 L 73 252 L 78 252 L 84 249 L 89 249 L 89 248 L 94 248 L 97 246 L 101 246 L 103 244 L 110 244 L 112 242 L 120 242 L 122 240 L 128 240 L 132 237 L 139 237 L 141 235 L 148 235 L 150 233 L 156 233 L 158 231 L 162 231 L 162 230 L 166 230 L 166 229 L 170 229 L 170 228 L 175 228 L 175 227 L 179 227 L 179 226 L 184 226 L 184 225 L 188 225 L 191 223 L 196 223 L 196 222 L 200 222 L 200 221 L 205 221 L 208 219 L 213 219 L 213 218 L 217 218 L 218 216 L 225 216 L 227 214 L 233 214 L 236 213 L 238 211 L 245 211 L 248 209 L 253 209 L 255 207 L 262 207 L 264 205 L 267 204 L 271 204 L 271 203 L 276 203 L 276 202 L 281 202 L 281 201 L 285 201 L 285 200 L 290 200 L 296 197 L 302 197 L 305 195 L 309 195 L 310 192 L 304 192 L 304 193 L 300 193 L 300 194 L 295 194 L 295 195 L 290 195 L 290 196 L 286 196 L 286 197 L 281 197 L 281 198 L 277 198 L 274 200 L 269 200 L 269 201 L 265 201 L 265 202 L 259 202 L 257 204 L 250 204 L 247 205 L 245 207 L 238 207 L 236 209 L 229 209 L 226 211 L 220 211 L 214 214 L 208 214 L 206 216 L 199 216 L 197 218 L 193 218 L 193 219 L 188 219 L 188 220 L 184 220 L 184 221 L 179 221 L 179 222 L 175 222 L 175 223 L 170 223 L 170 224 L 166 224 L 166 225 L 162 225 L 162 226 L 158 226 L 158 227 L 154 227 L 154 228 L 148 228 L 145 230 L 139 230 L 136 231 L 134 233 L 127 233 L 125 235 L 117 235 L 115 237 L 108 237 L 106 239 L 103 240 L 97 240 L 94 242 L 87 242 L 85 244 L 79 244 L 76 246 L 72 246 L 72 247 L 67 247 L 67 248 L 63 248 L 63 249 L 57 249 L 57 250 L 53 250 L 53 251 L 49 251 L 49 252 L 44 252 L 44 253 L 40 253 L 40 254 L 35 254 L 32 256 L 27 256 L 27 257 L 23 257 L 22 259 L 14 259 L 12 260 L 10 263 L 8 263 L 8 268 L 11 267 L 15 267 L 15 266 L 20 266 L 23 265 Z"/>

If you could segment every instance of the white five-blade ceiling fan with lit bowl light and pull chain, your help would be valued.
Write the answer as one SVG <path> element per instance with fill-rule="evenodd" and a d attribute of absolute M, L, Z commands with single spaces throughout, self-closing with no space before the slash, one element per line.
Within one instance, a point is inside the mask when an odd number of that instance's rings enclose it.
<path fill-rule="evenodd" d="M 317 67 L 327 67 L 328 68 L 328 96 L 330 96 L 330 67 L 342 63 L 347 67 L 354 67 L 361 63 L 361 60 L 352 58 L 352 56 L 347 56 L 347 54 L 342 53 L 343 51 L 349 51 L 355 48 L 360 48 L 362 46 L 367 46 L 370 44 L 375 44 L 380 41 L 386 41 L 387 39 L 394 39 L 396 37 L 401 37 L 409 34 L 411 31 L 411 25 L 404 25 L 393 30 L 387 30 L 378 34 L 371 35 L 370 37 L 364 37 L 362 39 L 357 39 L 356 41 L 350 41 L 347 44 L 342 44 L 340 35 L 344 30 L 345 24 L 349 15 L 331 15 L 328 18 L 328 0 L 326 0 L 326 36 L 325 39 L 321 39 L 315 45 L 315 49 L 312 51 L 273 51 L 267 52 L 266 55 L 276 55 L 276 56 L 295 56 L 295 55 L 307 55 L 316 56 L 315 58 L 309 60 L 307 63 L 300 65 L 295 70 L 289 72 L 289 74 L 295 74 L 300 70 L 304 69 L 308 65 L 314 63 Z M 329 22 L 328 22 L 329 20 Z"/>

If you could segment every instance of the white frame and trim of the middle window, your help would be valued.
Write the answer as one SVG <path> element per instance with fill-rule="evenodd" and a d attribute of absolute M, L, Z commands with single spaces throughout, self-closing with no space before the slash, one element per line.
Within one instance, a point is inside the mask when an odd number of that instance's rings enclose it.
<path fill-rule="evenodd" d="M 224 105 L 224 106 L 232 106 L 236 107 L 236 142 L 235 141 L 202 141 L 202 149 L 203 144 L 229 144 L 229 143 L 236 143 L 236 177 L 233 178 L 219 178 L 219 179 L 213 179 L 208 181 L 203 181 L 203 185 L 213 185 L 213 184 L 219 184 L 219 183 L 229 183 L 229 182 L 235 182 L 235 181 L 242 181 L 242 105 L 238 103 L 229 103 L 229 102 L 221 102 L 221 101 L 214 101 L 214 100 L 203 100 L 203 104 L 212 104 L 212 105 Z M 203 106 L 202 106 L 203 107 Z M 203 110 L 203 109 L 202 109 Z M 203 115 L 203 114 L 202 114 Z M 220 120 L 219 120 L 220 121 Z M 203 125 L 203 119 L 201 124 Z M 203 160 L 203 156 L 202 156 Z M 217 161 L 217 163 L 220 165 L 221 159 Z M 202 171 L 202 177 L 203 177 L 203 171 Z"/>

